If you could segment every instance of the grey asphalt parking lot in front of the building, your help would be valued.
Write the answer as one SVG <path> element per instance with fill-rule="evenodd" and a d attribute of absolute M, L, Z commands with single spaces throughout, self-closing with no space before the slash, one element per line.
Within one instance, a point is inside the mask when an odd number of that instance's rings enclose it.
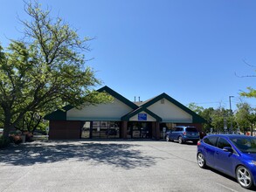
<path fill-rule="evenodd" d="M 248 191 L 166 141 L 35 141 L 0 150 L 0 191 Z"/>

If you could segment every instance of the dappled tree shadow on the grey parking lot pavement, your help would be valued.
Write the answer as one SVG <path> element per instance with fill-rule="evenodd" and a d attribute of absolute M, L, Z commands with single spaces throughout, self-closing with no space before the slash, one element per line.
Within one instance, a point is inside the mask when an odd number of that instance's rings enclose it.
<path fill-rule="evenodd" d="M 156 157 L 142 154 L 141 145 L 121 142 L 49 141 L 25 143 L 0 151 L 0 163 L 30 166 L 58 161 L 86 161 L 118 168 L 141 168 L 156 164 Z"/>

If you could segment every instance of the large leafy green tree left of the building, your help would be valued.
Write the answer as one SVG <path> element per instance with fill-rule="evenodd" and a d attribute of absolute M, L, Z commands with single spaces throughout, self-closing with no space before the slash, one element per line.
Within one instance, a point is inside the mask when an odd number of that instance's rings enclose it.
<path fill-rule="evenodd" d="M 24 25 L 23 40 L 11 40 L 0 47 L 0 116 L 3 136 L 8 137 L 25 113 L 37 113 L 63 106 L 109 101 L 107 94 L 93 91 L 100 84 L 93 69 L 85 65 L 83 53 L 89 38 L 81 39 L 60 17 L 49 10 L 26 3 L 31 20 Z"/>

